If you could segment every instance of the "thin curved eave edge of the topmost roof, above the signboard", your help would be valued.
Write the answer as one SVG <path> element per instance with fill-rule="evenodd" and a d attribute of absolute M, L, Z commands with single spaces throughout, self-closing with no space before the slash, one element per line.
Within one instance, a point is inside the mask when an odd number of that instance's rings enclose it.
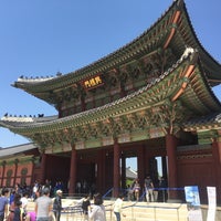
<path fill-rule="evenodd" d="M 183 0 L 179 0 L 179 1 L 173 1 L 173 3 L 169 7 L 169 9 L 148 29 L 146 30 L 141 35 L 139 35 L 138 38 L 136 38 L 134 41 L 131 41 L 130 43 L 122 46 L 120 49 L 118 49 L 117 51 L 102 57 L 101 60 L 85 66 L 82 67 L 80 70 L 76 70 L 74 72 L 67 73 L 65 75 L 57 75 L 56 77 L 50 77 L 49 80 L 42 80 L 42 78 L 35 78 L 35 80 L 18 80 L 17 82 L 14 82 L 14 84 L 12 86 L 15 86 L 18 88 L 22 88 L 25 92 L 34 95 L 35 92 L 43 92 L 42 86 L 46 86 L 44 88 L 49 90 L 56 90 L 60 87 L 63 87 L 65 85 L 71 85 L 73 83 L 76 83 L 85 77 L 90 77 L 91 75 L 94 75 L 98 72 L 105 71 L 107 67 L 113 69 L 115 65 L 118 65 L 120 61 L 125 61 L 124 57 L 126 57 L 126 54 L 128 56 L 128 51 L 133 51 L 133 49 L 137 48 L 136 44 L 141 41 L 141 39 L 147 38 L 147 35 L 151 32 L 151 30 L 154 30 L 154 28 L 156 28 L 164 19 L 167 18 L 167 15 L 169 13 L 172 13 L 173 10 L 177 9 L 177 7 L 182 7 L 183 10 L 182 12 L 185 13 L 188 23 L 189 23 L 189 28 L 191 29 L 191 33 L 188 33 L 191 35 L 192 42 L 194 42 L 198 48 L 199 51 L 202 52 L 202 60 L 206 61 L 210 61 L 212 62 L 212 64 L 214 66 L 217 66 L 215 70 L 219 70 L 221 72 L 221 65 L 220 63 L 218 63 L 218 61 L 215 61 L 207 51 L 206 49 L 202 46 L 202 44 L 200 43 L 200 41 L 197 38 L 197 34 L 194 32 L 194 29 L 191 24 L 189 14 L 188 14 L 188 10 L 186 8 L 186 4 L 183 2 Z M 149 42 L 151 43 L 151 42 Z M 135 54 L 131 53 L 130 56 L 133 56 Z M 41 97 L 40 97 L 41 98 Z"/>

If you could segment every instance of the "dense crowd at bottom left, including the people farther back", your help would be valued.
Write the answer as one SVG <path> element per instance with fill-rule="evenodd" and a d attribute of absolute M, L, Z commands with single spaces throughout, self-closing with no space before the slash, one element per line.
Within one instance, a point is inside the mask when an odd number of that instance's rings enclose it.
<path fill-rule="evenodd" d="M 49 217 L 60 221 L 63 189 L 62 181 L 52 187 L 48 179 L 43 185 L 35 181 L 32 187 L 17 183 L 14 188 L 2 188 L 0 221 L 48 221 Z M 29 200 L 35 202 L 33 211 L 27 209 Z"/>

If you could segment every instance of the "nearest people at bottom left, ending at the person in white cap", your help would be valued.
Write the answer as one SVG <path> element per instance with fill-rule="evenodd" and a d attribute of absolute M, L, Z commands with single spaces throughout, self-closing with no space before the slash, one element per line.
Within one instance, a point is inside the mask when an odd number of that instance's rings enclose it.
<path fill-rule="evenodd" d="M 0 197 L 0 221 L 49 221 L 51 211 L 60 221 L 62 203 L 62 190 L 56 191 L 52 201 L 50 189 L 44 187 L 35 198 L 34 211 L 28 211 L 29 193 L 23 194 L 2 188 Z M 53 209 L 53 210 L 52 210 Z"/>

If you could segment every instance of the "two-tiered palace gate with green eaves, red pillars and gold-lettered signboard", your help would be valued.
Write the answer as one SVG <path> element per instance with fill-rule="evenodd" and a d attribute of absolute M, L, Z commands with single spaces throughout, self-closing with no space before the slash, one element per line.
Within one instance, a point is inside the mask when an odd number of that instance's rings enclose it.
<path fill-rule="evenodd" d="M 199 42 L 185 2 L 173 1 L 141 35 L 105 57 L 67 74 L 13 83 L 54 106 L 57 116 L 1 118 L 1 127 L 35 146 L 0 158 L 1 185 L 9 169 L 20 181 L 27 168 L 30 182 L 60 177 L 74 193 L 86 180 L 116 196 L 125 188 L 127 158 L 137 157 L 143 185 L 147 173 L 157 178 L 159 157 L 169 188 L 197 185 L 207 200 L 207 186 L 221 191 L 221 104 L 212 92 L 220 82 L 220 63 Z M 170 191 L 169 198 L 180 196 Z"/>

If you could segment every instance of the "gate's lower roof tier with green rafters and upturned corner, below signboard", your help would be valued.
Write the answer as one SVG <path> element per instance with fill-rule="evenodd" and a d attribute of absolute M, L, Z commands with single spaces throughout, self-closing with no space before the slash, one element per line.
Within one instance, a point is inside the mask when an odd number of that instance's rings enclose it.
<path fill-rule="evenodd" d="M 175 105 L 177 109 L 176 123 L 185 125 L 185 128 L 189 128 L 188 120 L 191 118 L 221 113 L 220 102 L 208 87 L 207 76 L 202 72 L 202 63 L 198 52 L 183 53 L 180 60 L 154 82 L 104 106 L 63 118 L 57 118 L 57 116 L 39 118 L 4 116 L 1 118 L 0 125 L 22 136 L 31 137 L 32 140 L 39 135 L 49 138 L 48 133 L 94 128 L 101 127 L 101 125 L 107 127 L 108 120 L 117 122 L 120 117 L 127 122 L 124 124 L 130 124 L 133 117 L 139 122 L 139 117 L 143 117 L 145 113 L 146 117 L 152 119 L 148 119 L 143 127 L 148 128 L 151 125 L 164 127 L 161 120 L 155 118 L 154 115 L 164 115 L 167 106 L 171 105 Z M 137 125 L 139 124 L 137 123 Z M 220 123 L 218 127 L 220 128 Z M 92 130 L 95 131 L 95 129 Z M 99 134 L 102 135 L 105 129 L 101 129 Z M 76 139 L 80 137 L 76 134 Z"/>

